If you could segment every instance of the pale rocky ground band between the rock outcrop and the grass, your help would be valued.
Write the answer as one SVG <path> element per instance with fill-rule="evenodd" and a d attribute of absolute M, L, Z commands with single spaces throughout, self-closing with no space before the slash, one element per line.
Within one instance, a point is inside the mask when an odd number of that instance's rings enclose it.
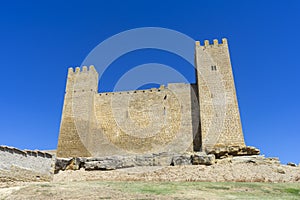
<path fill-rule="evenodd" d="M 219 161 L 214 165 L 133 167 L 108 171 L 66 170 L 54 176 L 63 181 L 211 181 L 211 182 L 296 182 L 300 167 L 277 163 L 249 163 L 244 160 Z"/>

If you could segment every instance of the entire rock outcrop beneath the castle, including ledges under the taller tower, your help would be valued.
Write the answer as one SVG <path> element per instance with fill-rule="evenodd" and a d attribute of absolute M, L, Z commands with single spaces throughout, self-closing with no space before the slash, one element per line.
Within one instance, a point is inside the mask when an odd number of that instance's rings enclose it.
<path fill-rule="evenodd" d="M 216 163 L 216 159 L 224 158 L 230 158 L 231 162 L 271 162 L 272 159 L 252 156 L 259 153 L 260 151 L 255 147 L 225 147 L 210 152 L 183 154 L 161 152 L 95 158 L 57 158 L 55 173 L 59 170 L 78 170 L 80 168 L 85 170 L 114 170 L 137 166 L 213 165 Z"/>

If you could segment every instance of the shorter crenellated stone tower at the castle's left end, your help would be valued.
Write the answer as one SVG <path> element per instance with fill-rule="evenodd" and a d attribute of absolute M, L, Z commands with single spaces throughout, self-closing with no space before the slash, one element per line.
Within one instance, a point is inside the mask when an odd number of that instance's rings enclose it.
<path fill-rule="evenodd" d="M 75 72 L 69 68 L 57 145 L 58 157 L 91 156 L 85 145 L 91 142 L 88 133 L 95 122 L 94 96 L 97 92 L 98 73 L 94 66 L 89 69 L 84 66 L 82 71 L 76 67 Z"/>

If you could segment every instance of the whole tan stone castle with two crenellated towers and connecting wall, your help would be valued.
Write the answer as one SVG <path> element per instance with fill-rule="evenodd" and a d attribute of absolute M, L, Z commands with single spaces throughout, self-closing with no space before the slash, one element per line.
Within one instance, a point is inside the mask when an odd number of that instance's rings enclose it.
<path fill-rule="evenodd" d="M 58 157 L 245 147 L 226 39 L 195 43 L 195 84 L 98 93 L 93 66 L 69 68 Z"/>

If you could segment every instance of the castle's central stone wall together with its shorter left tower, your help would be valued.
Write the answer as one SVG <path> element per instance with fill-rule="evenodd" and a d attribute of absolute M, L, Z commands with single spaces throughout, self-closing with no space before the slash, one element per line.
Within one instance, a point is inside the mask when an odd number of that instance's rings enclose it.
<path fill-rule="evenodd" d="M 97 77 L 93 67 L 69 70 L 58 157 L 200 149 L 195 85 L 97 93 Z"/>

